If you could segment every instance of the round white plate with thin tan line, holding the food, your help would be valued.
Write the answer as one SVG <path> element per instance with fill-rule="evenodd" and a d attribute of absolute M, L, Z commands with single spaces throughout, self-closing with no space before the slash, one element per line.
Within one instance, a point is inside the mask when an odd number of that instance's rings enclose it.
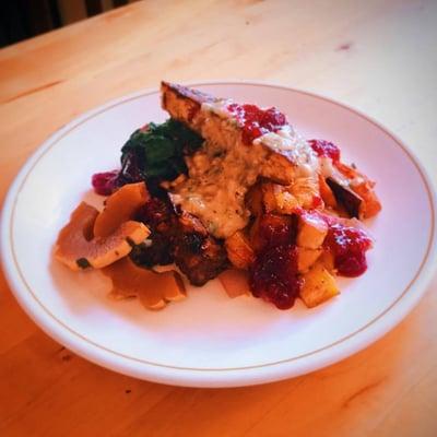
<path fill-rule="evenodd" d="M 90 178 L 118 166 L 128 135 L 163 121 L 157 92 L 122 97 L 72 121 L 47 140 L 14 181 L 3 210 L 1 249 L 16 298 L 49 335 L 114 370 L 181 386 L 229 387 L 302 375 L 338 362 L 394 327 L 418 302 L 435 259 L 435 196 L 416 158 L 383 128 L 327 98 L 251 83 L 198 86 L 239 102 L 275 105 L 307 138 L 341 145 L 377 180 L 383 204 L 368 223 L 376 238 L 368 271 L 340 280 L 341 295 L 308 310 L 281 311 L 261 299 L 229 299 L 220 283 L 190 288 L 163 311 L 107 298 L 99 272 L 52 261 L 59 229 Z"/>

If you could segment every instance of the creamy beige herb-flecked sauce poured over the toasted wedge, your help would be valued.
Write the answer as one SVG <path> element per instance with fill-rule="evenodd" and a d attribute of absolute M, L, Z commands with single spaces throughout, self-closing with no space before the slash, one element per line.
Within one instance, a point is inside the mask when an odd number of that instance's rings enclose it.
<path fill-rule="evenodd" d="M 203 111 L 213 111 L 223 119 L 223 129 L 235 129 L 236 121 L 226 110 L 229 101 L 203 104 Z M 291 126 L 277 133 L 267 133 L 253 141 L 276 152 L 286 152 L 295 164 L 296 177 L 315 175 L 318 160 L 308 143 Z M 245 196 L 257 181 L 264 162 L 265 150 L 260 146 L 235 144 L 229 149 L 212 142 L 187 158 L 188 178 L 170 193 L 175 204 L 198 216 L 210 234 L 227 238 L 244 228 L 250 213 Z"/>

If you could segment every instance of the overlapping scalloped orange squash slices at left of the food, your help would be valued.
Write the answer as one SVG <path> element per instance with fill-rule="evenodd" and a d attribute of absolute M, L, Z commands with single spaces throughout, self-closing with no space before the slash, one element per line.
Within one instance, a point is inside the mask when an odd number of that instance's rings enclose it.
<path fill-rule="evenodd" d="M 131 220 L 149 199 L 144 182 L 138 182 L 125 185 L 108 197 L 101 213 L 82 202 L 60 232 L 55 253 L 72 270 L 102 268 L 113 282 L 114 297 L 138 297 L 146 308 L 161 309 L 185 297 L 179 273 L 156 273 L 127 257 L 150 235 L 143 223 Z"/>

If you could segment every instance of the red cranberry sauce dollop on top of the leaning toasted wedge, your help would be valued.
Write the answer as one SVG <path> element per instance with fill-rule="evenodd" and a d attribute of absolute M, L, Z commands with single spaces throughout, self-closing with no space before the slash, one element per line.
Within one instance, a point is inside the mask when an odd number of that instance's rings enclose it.
<path fill-rule="evenodd" d="M 264 133 L 276 132 L 287 125 L 286 117 L 276 108 L 261 109 L 256 105 L 233 103 L 226 109 L 236 118 L 243 129 L 243 142 L 250 145 Z"/>

